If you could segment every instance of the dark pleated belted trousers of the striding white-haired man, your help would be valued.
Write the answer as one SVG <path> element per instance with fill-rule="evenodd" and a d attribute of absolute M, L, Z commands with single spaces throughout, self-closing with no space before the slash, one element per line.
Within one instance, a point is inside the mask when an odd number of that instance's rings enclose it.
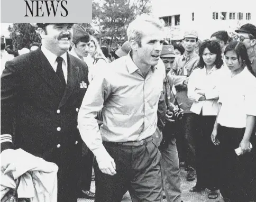
<path fill-rule="evenodd" d="M 96 202 L 121 201 L 129 190 L 132 201 L 161 201 L 161 154 L 153 141 L 140 146 L 103 142 L 116 164 L 116 175 L 106 175 L 95 166 Z"/>

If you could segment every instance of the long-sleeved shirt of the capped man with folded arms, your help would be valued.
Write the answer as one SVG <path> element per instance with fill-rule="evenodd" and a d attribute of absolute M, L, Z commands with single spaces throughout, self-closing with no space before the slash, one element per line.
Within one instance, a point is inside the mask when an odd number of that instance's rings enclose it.
<path fill-rule="evenodd" d="M 188 99 L 187 86 L 183 84 L 183 81 L 190 76 L 191 72 L 197 67 L 198 62 L 199 56 L 195 51 L 188 56 L 183 54 L 182 56 L 175 58 L 173 70 L 176 72 L 177 76 L 174 76 L 174 85 L 177 90 L 177 101 L 178 103 L 182 103 L 180 107 L 184 109 L 184 113 L 191 113 L 189 109 L 192 106 L 193 101 Z"/>

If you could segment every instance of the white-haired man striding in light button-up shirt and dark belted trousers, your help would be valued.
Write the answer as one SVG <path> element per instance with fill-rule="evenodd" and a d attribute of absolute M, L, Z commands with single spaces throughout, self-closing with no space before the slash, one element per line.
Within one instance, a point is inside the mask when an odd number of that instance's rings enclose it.
<path fill-rule="evenodd" d="M 93 79 L 78 128 L 97 160 L 96 201 L 121 201 L 127 190 L 133 201 L 161 201 L 161 154 L 152 135 L 163 90 L 164 66 L 158 64 L 163 25 L 141 15 L 130 23 L 127 36 L 132 50 Z"/>

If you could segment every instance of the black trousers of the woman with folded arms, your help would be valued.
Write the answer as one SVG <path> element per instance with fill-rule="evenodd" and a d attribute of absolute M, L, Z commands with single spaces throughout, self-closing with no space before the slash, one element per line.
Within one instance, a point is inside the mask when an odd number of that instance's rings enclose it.
<path fill-rule="evenodd" d="M 196 186 L 216 190 L 219 188 L 218 146 L 211 140 L 216 116 L 195 114 L 193 128 L 196 151 Z"/>

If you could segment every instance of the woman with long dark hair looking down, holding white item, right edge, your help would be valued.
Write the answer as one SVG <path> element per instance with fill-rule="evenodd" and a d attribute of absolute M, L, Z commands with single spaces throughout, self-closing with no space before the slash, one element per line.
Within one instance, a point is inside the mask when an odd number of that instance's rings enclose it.
<path fill-rule="evenodd" d="M 231 72 L 221 85 L 211 138 L 221 154 L 220 191 L 224 200 L 248 202 L 253 194 L 250 139 L 256 124 L 256 78 L 242 42 L 229 43 L 224 55 Z"/>

